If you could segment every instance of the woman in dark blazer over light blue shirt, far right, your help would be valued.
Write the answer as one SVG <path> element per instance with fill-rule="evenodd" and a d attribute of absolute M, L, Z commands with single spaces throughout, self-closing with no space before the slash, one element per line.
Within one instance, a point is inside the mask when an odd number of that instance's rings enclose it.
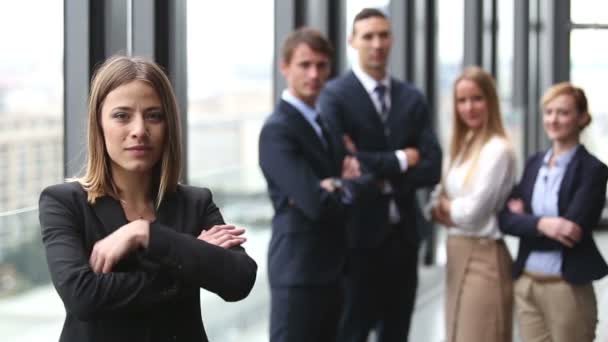
<path fill-rule="evenodd" d="M 591 116 L 582 89 L 549 88 L 543 124 L 552 142 L 526 163 L 500 215 L 520 237 L 513 270 L 522 340 L 593 341 L 597 304 L 591 282 L 608 273 L 593 240 L 606 200 L 608 168 L 580 144 Z"/>

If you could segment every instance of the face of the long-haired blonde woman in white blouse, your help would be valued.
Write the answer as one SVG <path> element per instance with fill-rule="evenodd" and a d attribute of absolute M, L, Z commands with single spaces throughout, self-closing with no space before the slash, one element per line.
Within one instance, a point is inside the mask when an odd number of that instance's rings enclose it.
<path fill-rule="evenodd" d="M 488 117 L 488 104 L 477 83 L 463 79 L 456 84 L 456 112 L 469 129 L 483 127 Z"/>

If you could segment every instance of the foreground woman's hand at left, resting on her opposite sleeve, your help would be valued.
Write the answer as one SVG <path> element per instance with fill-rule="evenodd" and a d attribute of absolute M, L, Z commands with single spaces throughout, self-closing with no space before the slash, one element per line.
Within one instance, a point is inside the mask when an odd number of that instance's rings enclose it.
<path fill-rule="evenodd" d="M 150 223 L 135 220 L 118 228 L 112 234 L 97 241 L 89 257 L 95 273 L 109 273 L 116 263 L 138 247 L 147 247 Z"/>

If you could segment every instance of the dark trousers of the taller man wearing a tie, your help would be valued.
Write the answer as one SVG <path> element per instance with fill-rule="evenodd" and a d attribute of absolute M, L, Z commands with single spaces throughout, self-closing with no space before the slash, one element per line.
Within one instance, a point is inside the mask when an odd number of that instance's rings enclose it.
<path fill-rule="evenodd" d="M 418 242 L 395 228 L 380 246 L 351 249 L 338 341 L 407 341 L 418 285 Z"/>

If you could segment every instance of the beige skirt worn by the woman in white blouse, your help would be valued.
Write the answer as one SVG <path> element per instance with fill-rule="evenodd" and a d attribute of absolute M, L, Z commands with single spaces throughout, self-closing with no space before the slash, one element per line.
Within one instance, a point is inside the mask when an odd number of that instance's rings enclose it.
<path fill-rule="evenodd" d="M 511 263 L 502 240 L 448 237 L 447 342 L 511 342 Z"/>

